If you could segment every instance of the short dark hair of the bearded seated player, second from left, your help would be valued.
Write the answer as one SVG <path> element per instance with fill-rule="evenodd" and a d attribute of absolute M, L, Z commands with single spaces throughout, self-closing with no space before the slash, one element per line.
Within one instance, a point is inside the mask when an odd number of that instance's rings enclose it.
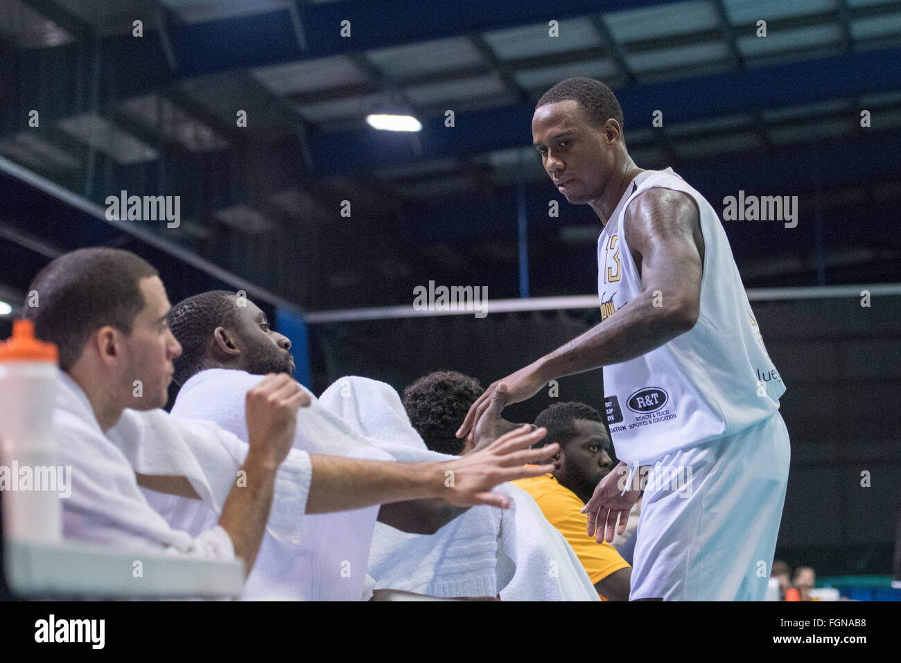
<path fill-rule="evenodd" d="M 183 299 L 169 311 L 169 329 L 181 343 L 172 375 L 178 385 L 206 368 L 206 349 L 213 332 L 216 327 L 232 326 L 237 316 L 235 301 L 236 295 L 228 290 L 210 290 Z"/>

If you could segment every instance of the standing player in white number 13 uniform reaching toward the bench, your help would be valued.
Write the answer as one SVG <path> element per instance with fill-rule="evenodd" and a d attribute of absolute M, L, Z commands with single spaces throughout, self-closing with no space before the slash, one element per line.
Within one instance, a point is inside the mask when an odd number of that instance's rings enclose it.
<path fill-rule="evenodd" d="M 601 322 L 498 380 L 507 404 L 550 380 L 604 367 L 621 463 L 586 505 L 588 534 L 613 539 L 646 481 L 630 598 L 762 600 L 788 477 L 785 386 L 769 360 L 714 209 L 672 171 L 635 166 L 609 87 L 569 78 L 539 100 L 532 138 L 572 204 L 604 224 Z M 628 477 L 626 477 L 628 475 Z"/>

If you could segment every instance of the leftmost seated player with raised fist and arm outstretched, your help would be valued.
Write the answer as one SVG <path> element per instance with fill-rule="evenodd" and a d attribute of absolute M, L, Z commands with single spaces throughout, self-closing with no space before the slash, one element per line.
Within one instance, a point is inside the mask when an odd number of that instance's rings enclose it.
<path fill-rule="evenodd" d="M 38 338 L 59 349 L 54 432 L 61 463 L 72 467 L 72 496 L 63 507 L 70 539 L 205 559 L 238 556 L 250 572 L 264 536 L 296 540 L 305 513 L 432 497 L 505 506 L 490 488 L 521 473 L 523 454 L 549 455 L 522 450 L 539 436 L 508 436 L 475 463 L 454 468 L 458 480 L 449 489 L 443 477 L 450 465 L 294 450 L 296 413 L 309 395 L 284 374 L 263 377 L 245 393 L 247 437 L 239 440 L 159 409 L 181 348 L 168 329 L 165 288 L 146 261 L 123 250 L 77 250 L 51 261 L 29 289 L 38 305 L 26 305 L 26 317 Z M 172 528 L 139 485 L 202 500 L 217 514 L 214 526 L 194 536 Z"/>

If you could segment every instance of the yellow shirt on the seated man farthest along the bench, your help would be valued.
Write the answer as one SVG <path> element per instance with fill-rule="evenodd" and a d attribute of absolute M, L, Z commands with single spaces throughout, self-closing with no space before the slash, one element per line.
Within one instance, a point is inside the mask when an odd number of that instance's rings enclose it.
<path fill-rule="evenodd" d="M 585 503 L 569 488 L 560 486 L 553 475 L 516 479 L 511 483 L 532 495 L 544 517 L 572 546 L 593 585 L 614 571 L 629 568 L 629 563 L 613 546 L 606 541 L 597 543 L 594 537 L 588 536 L 588 516 L 579 513 Z"/>

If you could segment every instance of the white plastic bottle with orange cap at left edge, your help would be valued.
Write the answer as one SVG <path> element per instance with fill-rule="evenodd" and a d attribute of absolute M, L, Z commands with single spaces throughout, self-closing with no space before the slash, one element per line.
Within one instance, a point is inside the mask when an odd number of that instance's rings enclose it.
<path fill-rule="evenodd" d="M 57 465 L 53 406 L 57 348 L 34 338 L 29 320 L 13 323 L 0 342 L 0 490 L 4 537 L 59 545 L 62 504 L 71 470 Z"/>

